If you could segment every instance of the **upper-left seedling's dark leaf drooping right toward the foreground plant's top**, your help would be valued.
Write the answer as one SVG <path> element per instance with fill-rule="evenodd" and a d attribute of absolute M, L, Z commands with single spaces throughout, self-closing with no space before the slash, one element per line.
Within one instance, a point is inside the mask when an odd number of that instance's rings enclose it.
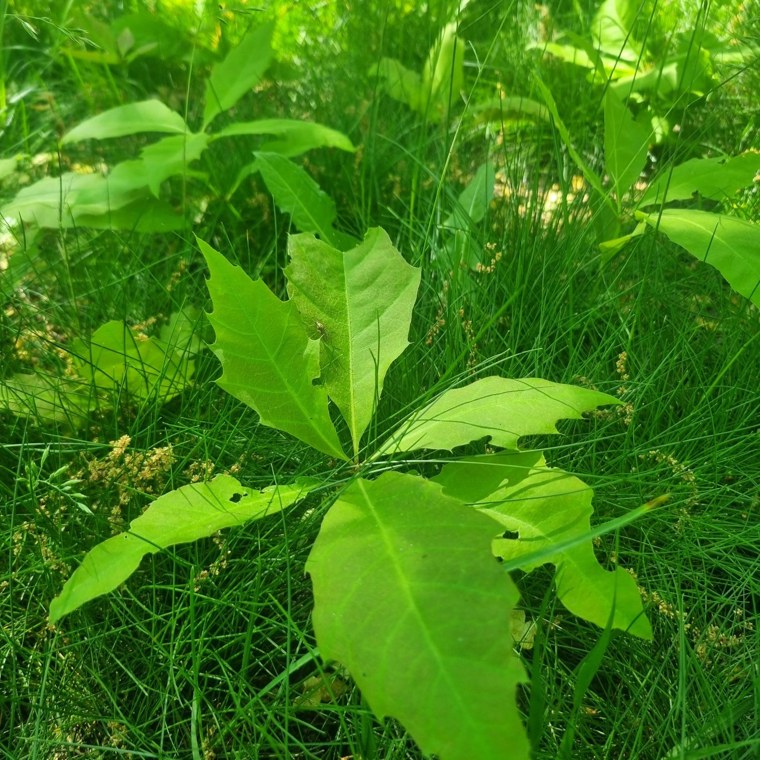
<path fill-rule="evenodd" d="M 276 153 L 254 155 L 256 169 L 280 211 L 290 214 L 302 232 L 316 233 L 335 248 L 344 249 L 344 238 L 333 229 L 337 218 L 334 201 L 306 170 Z"/>

